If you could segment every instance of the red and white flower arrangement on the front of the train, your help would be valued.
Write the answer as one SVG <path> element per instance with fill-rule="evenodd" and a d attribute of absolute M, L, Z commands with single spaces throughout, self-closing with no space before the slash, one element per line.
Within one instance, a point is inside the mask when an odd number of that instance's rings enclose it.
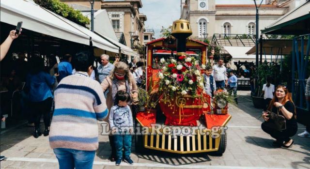
<path fill-rule="evenodd" d="M 160 59 L 159 92 L 173 97 L 174 94 L 197 97 L 197 90 L 203 88 L 199 61 L 189 55 L 181 55 L 178 60 Z"/>

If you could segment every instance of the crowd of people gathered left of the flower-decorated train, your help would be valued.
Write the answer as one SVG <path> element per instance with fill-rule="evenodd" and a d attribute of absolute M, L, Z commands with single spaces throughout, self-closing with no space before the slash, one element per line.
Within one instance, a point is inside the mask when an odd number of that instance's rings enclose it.
<path fill-rule="evenodd" d="M 17 37 L 11 31 L 8 39 L 11 42 Z M 6 42 L 3 45 L 10 47 Z M 1 59 L 6 54 L 2 53 L 2 48 L 1 45 Z M 120 61 L 117 54 L 111 63 L 109 55 L 102 54 L 101 64 L 94 67 L 94 57 L 89 52 L 79 52 L 74 56 L 65 54 L 60 58 L 58 62 L 55 55 L 44 59 L 39 52 L 32 52 L 28 61 L 20 57 L 20 61 L 25 61 L 23 75 L 16 74 L 14 68 L 2 82 L 12 95 L 25 81 L 25 86 L 20 89 L 24 96 L 21 102 L 27 100 L 23 109 L 28 109 L 29 126 L 34 127 L 33 137 L 49 136 L 61 169 L 91 169 L 98 148 L 97 120 L 105 120 L 114 132 L 109 136 L 110 160 L 116 165 L 122 160 L 132 165 L 130 134 L 133 128 L 122 131 L 122 127 L 133 127 L 131 106 L 139 101 L 138 89 L 145 77 L 144 63 L 138 58 L 126 63 Z M 40 129 L 42 115 L 43 133 Z M 5 118 L 1 116 L 1 120 Z M 120 135 L 122 132 L 126 135 Z"/>

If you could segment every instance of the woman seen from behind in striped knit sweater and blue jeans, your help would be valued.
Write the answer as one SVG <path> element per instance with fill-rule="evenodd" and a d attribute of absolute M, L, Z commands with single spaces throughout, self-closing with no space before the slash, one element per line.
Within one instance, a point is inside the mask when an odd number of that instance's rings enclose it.
<path fill-rule="evenodd" d="M 98 149 L 97 120 L 108 116 L 100 84 L 89 78 L 93 57 L 87 52 L 73 58 L 76 73 L 64 77 L 55 90 L 55 111 L 49 144 L 60 169 L 92 169 Z"/>

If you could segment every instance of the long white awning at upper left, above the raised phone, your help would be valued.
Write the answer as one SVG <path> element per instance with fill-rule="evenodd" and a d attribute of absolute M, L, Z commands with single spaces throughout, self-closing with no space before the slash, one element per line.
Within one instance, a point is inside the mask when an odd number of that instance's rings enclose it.
<path fill-rule="evenodd" d="M 93 46 L 118 53 L 118 47 L 107 40 L 30 0 L 1 0 L 0 6 L 1 22 L 16 25 L 23 21 L 22 27 L 27 30 L 84 45 L 90 45 L 91 38 Z"/>

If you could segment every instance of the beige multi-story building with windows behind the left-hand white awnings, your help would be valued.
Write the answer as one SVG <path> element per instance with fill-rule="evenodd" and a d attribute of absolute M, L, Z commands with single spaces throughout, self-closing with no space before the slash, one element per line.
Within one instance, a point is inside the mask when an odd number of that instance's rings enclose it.
<path fill-rule="evenodd" d="M 74 4 L 91 7 L 89 0 L 62 0 L 74 6 Z M 144 22 L 146 15 L 139 12 L 142 8 L 141 0 L 95 0 L 95 11 L 105 9 L 109 15 L 115 34 L 120 42 L 129 47 L 143 46 Z"/>

